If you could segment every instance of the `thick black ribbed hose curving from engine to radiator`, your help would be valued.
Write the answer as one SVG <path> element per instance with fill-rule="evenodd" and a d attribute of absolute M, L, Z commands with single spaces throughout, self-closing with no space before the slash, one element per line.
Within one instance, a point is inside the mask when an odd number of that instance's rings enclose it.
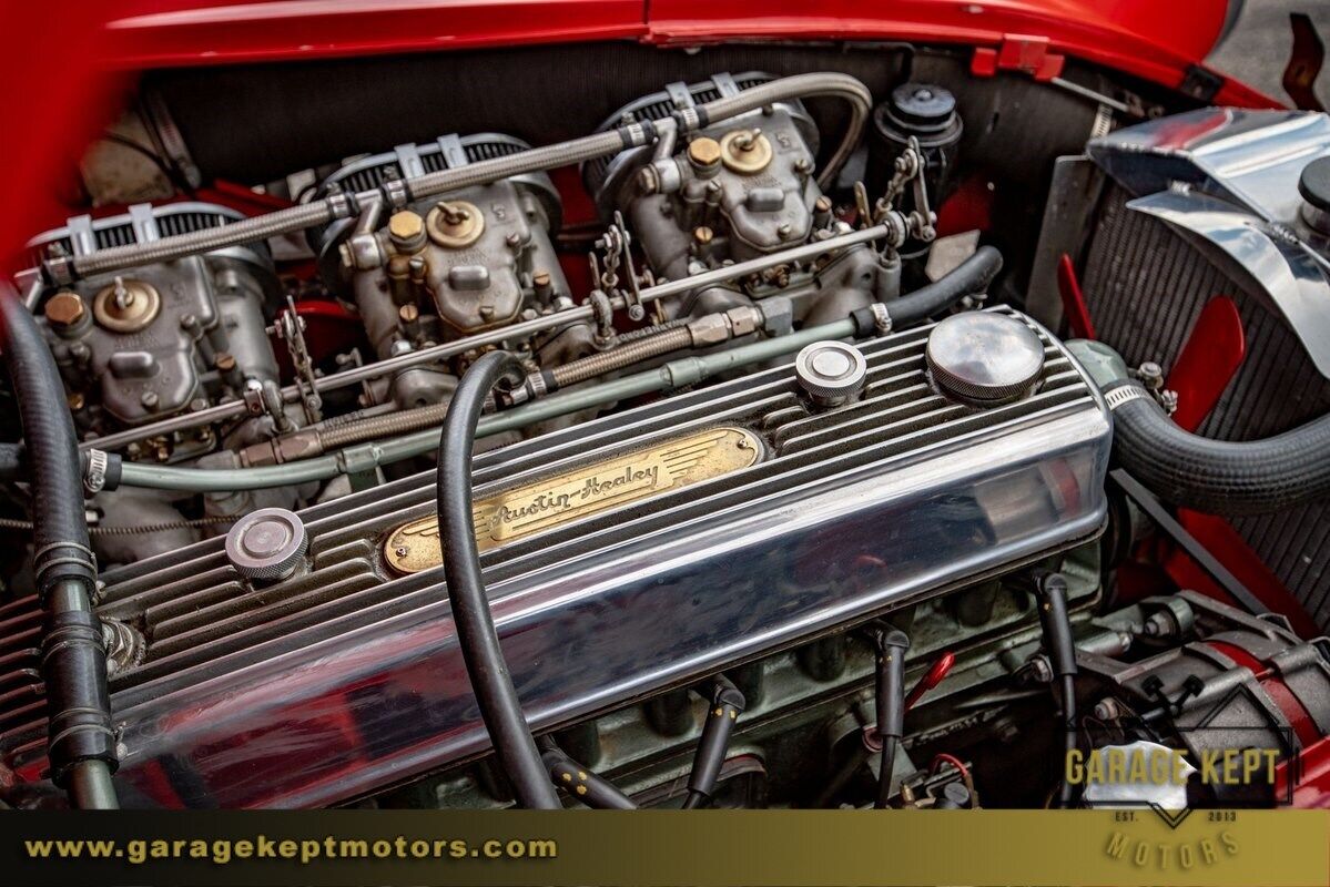
<path fill-rule="evenodd" d="M 1145 392 L 1128 382 L 1105 394 L 1124 387 Z M 1210 440 L 1137 395 L 1113 408 L 1113 452 L 1150 492 L 1208 515 L 1264 515 L 1330 493 L 1330 415 L 1262 440 Z"/>

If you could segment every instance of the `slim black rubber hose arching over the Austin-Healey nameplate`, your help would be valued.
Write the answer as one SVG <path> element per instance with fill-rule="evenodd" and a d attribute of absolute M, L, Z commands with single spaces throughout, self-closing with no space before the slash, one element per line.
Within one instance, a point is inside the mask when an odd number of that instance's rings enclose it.
<path fill-rule="evenodd" d="M 517 803 L 523 807 L 559 810 L 563 805 L 540 759 L 531 726 L 521 714 L 521 702 L 499 645 L 472 524 L 471 452 L 476 424 L 485 396 L 501 378 L 513 384 L 521 382 L 521 362 L 516 356 L 507 351 L 491 351 L 476 360 L 462 376 L 443 420 L 435 487 L 443 570 L 458 645 L 499 766 L 508 774 Z"/>

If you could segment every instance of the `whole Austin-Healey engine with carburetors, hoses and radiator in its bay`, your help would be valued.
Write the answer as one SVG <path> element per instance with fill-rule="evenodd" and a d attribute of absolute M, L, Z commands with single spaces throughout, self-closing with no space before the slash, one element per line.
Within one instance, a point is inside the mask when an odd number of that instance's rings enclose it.
<path fill-rule="evenodd" d="M 145 78 L 194 185 L 9 299 L 89 536 L 7 418 L 5 803 L 1096 806 L 1063 753 L 1133 739 L 1330 798 L 1323 114 L 560 52 L 414 117 L 331 64 L 270 146 Z"/>

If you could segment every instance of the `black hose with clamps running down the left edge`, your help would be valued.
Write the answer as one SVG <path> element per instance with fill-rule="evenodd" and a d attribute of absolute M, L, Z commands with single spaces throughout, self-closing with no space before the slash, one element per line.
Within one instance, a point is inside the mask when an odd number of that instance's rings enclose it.
<path fill-rule="evenodd" d="M 92 610 L 97 568 L 88 547 L 78 439 L 51 350 L 8 282 L 0 282 L 0 323 L 32 472 L 33 574 L 47 610 L 41 662 L 51 775 L 76 806 L 114 809 L 110 774 L 118 761 L 106 653 Z"/>

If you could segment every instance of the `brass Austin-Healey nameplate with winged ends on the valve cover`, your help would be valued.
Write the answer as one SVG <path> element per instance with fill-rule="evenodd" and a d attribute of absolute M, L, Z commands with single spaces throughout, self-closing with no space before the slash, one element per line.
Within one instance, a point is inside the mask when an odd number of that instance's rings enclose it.
<path fill-rule="evenodd" d="M 668 489 L 720 477 L 747 468 L 761 455 L 762 444 L 751 432 L 713 428 L 515 487 L 472 508 L 476 547 L 488 551 Z M 438 517 L 430 515 L 388 533 L 383 560 L 398 573 L 439 567 L 443 555 Z"/>

